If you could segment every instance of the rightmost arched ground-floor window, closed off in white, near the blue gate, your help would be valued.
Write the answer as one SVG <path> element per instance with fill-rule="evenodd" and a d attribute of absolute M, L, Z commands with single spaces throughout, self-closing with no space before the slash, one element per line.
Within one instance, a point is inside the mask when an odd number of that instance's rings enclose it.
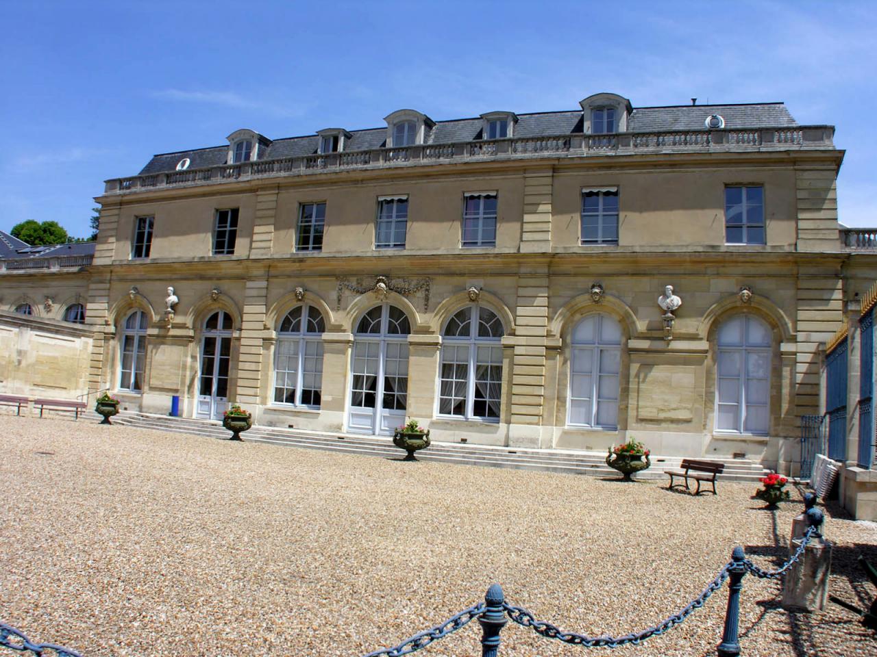
<path fill-rule="evenodd" d="M 718 329 L 716 430 L 766 434 L 770 425 L 771 329 L 738 315 Z"/>

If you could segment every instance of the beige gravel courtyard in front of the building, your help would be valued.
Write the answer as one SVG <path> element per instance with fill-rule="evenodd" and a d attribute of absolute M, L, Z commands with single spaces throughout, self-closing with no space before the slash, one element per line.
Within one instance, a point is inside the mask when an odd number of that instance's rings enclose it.
<path fill-rule="evenodd" d="M 493 582 L 563 629 L 624 634 L 688 604 L 735 544 L 774 568 L 802 510 L 761 509 L 753 484 L 693 498 L 658 483 L 4 420 L 0 620 L 86 657 L 355 657 Z M 877 525 L 826 511 L 831 593 L 862 606 L 874 590 L 855 557 L 877 562 Z M 849 612 L 789 614 L 780 596 L 745 577 L 742 654 L 877 654 Z M 666 635 L 613 654 L 715 654 L 726 599 L 724 587 Z M 473 623 L 417 654 L 478 655 L 480 635 Z M 502 636 L 508 657 L 588 652 L 511 623 Z"/>

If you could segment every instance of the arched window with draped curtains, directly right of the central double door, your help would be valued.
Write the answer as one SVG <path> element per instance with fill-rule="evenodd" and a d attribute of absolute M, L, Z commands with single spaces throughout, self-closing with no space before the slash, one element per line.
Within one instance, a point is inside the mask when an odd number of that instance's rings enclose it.
<path fill-rule="evenodd" d="M 442 333 L 439 414 L 499 421 L 503 322 L 483 306 L 457 311 Z"/>

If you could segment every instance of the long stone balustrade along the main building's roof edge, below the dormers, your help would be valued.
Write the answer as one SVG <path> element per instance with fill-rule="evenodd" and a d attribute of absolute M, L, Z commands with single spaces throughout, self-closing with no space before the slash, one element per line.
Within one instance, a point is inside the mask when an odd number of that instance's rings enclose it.
<path fill-rule="evenodd" d="M 586 157 L 663 152 L 788 151 L 833 149 L 831 125 L 800 125 L 748 130 L 636 132 L 615 135 L 558 135 L 413 145 L 372 151 L 333 152 L 153 173 L 106 180 L 107 194 L 148 191 L 156 187 L 190 187 L 229 180 L 328 173 L 385 166 L 534 157 Z"/>

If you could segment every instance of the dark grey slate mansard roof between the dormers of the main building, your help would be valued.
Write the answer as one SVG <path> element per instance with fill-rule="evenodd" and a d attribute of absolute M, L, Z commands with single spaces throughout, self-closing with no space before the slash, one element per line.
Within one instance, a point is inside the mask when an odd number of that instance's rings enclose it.
<path fill-rule="evenodd" d="M 792 127 L 798 123 L 782 102 L 756 102 L 727 105 L 678 105 L 669 107 L 641 107 L 631 110 L 628 132 L 656 131 L 706 131 L 707 117 L 718 114 L 724 118 L 726 129 Z M 583 114 L 581 109 L 560 112 L 518 114 L 515 138 L 556 137 L 581 134 Z M 463 118 L 438 121 L 427 131 L 424 144 L 439 145 L 481 139 L 483 119 Z M 345 152 L 370 151 L 382 148 L 387 141 L 387 128 L 371 128 L 350 131 Z M 275 139 L 266 150 L 260 149 L 259 159 L 302 157 L 317 152 L 319 136 Z M 177 163 L 189 158 L 189 168 L 222 166 L 228 156 L 228 145 L 212 146 L 192 151 L 179 151 L 154 155 L 143 167 L 140 175 L 167 173 L 176 169 Z"/>

